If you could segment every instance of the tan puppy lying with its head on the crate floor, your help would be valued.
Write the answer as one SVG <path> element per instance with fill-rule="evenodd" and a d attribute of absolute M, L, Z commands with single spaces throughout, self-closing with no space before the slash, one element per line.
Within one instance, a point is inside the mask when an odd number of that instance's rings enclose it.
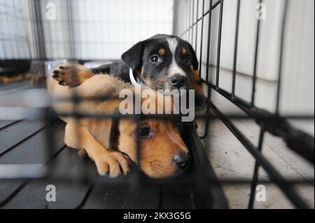
<path fill-rule="evenodd" d="M 87 98 L 106 98 L 105 101 L 80 101 L 76 104 L 71 101 L 55 102 L 53 107 L 57 113 L 119 113 L 118 108 L 123 101 L 118 97 L 120 90 L 131 89 L 134 92 L 133 85 L 123 80 L 110 75 L 93 75 L 89 69 L 74 64 L 57 67 L 48 77 L 47 85 L 54 98 L 71 99 L 73 92 Z M 165 106 L 158 104 L 158 101 L 155 103 L 163 108 Z M 110 177 L 116 177 L 128 173 L 128 159 L 137 161 L 137 123 L 134 120 L 120 119 L 115 123 L 110 118 L 61 118 L 67 123 L 64 136 L 66 145 L 84 149 L 95 162 L 100 175 L 109 174 Z M 140 129 L 141 170 L 153 178 L 165 178 L 183 172 L 190 158 L 178 124 L 173 120 L 145 119 L 141 120 Z"/>

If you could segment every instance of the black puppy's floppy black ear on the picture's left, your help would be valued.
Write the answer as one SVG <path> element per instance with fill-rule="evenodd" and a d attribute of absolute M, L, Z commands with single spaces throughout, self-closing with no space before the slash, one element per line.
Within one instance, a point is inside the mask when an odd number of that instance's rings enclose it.
<path fill-rule="evenodd" d="M 142 66 L 142 56 L 144 55 L 144 41 L 141 41 L 127 50 L 121 56 L 123 62 L 131 69 L 137 69 Z"/>

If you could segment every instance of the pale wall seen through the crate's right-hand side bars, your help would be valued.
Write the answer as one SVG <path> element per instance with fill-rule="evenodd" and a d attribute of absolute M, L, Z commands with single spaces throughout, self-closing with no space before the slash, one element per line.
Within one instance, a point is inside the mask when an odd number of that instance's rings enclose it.
<path fill-rule="evenodd" d="M 281 19 L 285 0 L 265 0 L 266 19 L 260 20 L 260 41 L 258 48 L 257 89 L 255 105 L 274 112 L 276 107 L 276 87 L 279 71 L 279 48 L 281 38 Z M 191 1 L 179 1 L 179 7 L 185 10 Z M 202 2 L 200 0 L 200 2 Z M 213 1 L 216 2 L 216 1 Z M 237 78 L 235 94 L 246 101 L 251 101 L 251 83 L 253 76 L 255 31 L 257 20 L 256 6 L 258 1 L 241 0 L 239 17 L 239 42 L 237 52 Z M 197 13 L 196 1 L 195 15 Z M 199 6 L 201 16 L 201 3 Z M 191 7 L 192 8 L 192 7 Z M 205 10 L 209 9 L 209 0 L 205 1 Z M 220 7 L 212 11 L 209 78 L 216 82 L 216 57 L 218 41 L 218 18 Z M 235 22 L 237 1 L 224 0 L 223 26 L 221 37 L 221 66 L 219 86 L 229 92 L 232 89 L 232 66 L 235 43 Z M 209 15 L 204 17 L 204 33 L 201 36 L 201 21 L 198 22 L 197 55 L 200 54 L 200 40 L 202 49 L 202 76 L 205 76 L 207 57 L 207 34 Z M 195 21 L 195 19 L 194 19 Z M 175 30 L 182 34 L 188 27 L 184 20 Z M 195 31 L 191 38 L 191 31 L 183 38 L 195 46 Z M 214 95 L 215 97 L 215 95 Z M 283 45 L 283 69 L 281 82 L 280 111 L 286 114 L 314 113 L 314 1 L 290 0 L 285 27 Z"/>

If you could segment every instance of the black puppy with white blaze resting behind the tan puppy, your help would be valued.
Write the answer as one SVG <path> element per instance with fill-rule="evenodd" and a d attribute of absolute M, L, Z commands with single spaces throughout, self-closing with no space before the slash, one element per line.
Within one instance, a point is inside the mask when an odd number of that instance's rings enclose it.
<path fill-rule="evenodd" d="M 134 78 L 152 89 L 195 89 L 195 106 L 204 105 L 195 50 L 187 41 L 166 34 L 157 34 L 141 41 L 123 53 L 122 62 L 92 69 L 94 73 L 110 73 L 130 82 Z"/>

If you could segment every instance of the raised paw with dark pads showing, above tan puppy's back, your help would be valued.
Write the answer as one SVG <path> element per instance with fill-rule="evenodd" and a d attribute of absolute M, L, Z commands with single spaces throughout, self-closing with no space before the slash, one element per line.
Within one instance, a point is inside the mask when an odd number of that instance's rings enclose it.
<path fill-rule="evenodd" d="M 52 71 L 52 78 L 58 81 L 59 85 L 76 87 L 86 79 L 91 78 L 93 72 L 80 64 L 62 64 Z"/>

